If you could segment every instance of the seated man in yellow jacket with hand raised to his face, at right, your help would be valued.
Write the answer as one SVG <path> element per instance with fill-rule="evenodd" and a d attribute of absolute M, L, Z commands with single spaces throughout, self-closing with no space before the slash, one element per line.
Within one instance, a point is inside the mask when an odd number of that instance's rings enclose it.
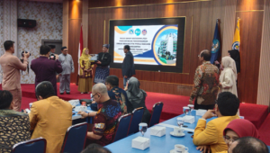
<path fill-rule="evenodd" d="M 193 135 L 194 145 L 199 146 L 198 148 L 210 145 L 212 153 L 228 150 L 223 139 L 223 130 L 230 121 L 239 118 L 237 115 L 238 107 L 239 100 L 235 94 L 229 92 L 220 93 L 215 104 L 215 110 L 205 112 L 198 121 Z M 206 124 L 206 120 L 213 116 L 217 116 L 218 118 Z"/>

